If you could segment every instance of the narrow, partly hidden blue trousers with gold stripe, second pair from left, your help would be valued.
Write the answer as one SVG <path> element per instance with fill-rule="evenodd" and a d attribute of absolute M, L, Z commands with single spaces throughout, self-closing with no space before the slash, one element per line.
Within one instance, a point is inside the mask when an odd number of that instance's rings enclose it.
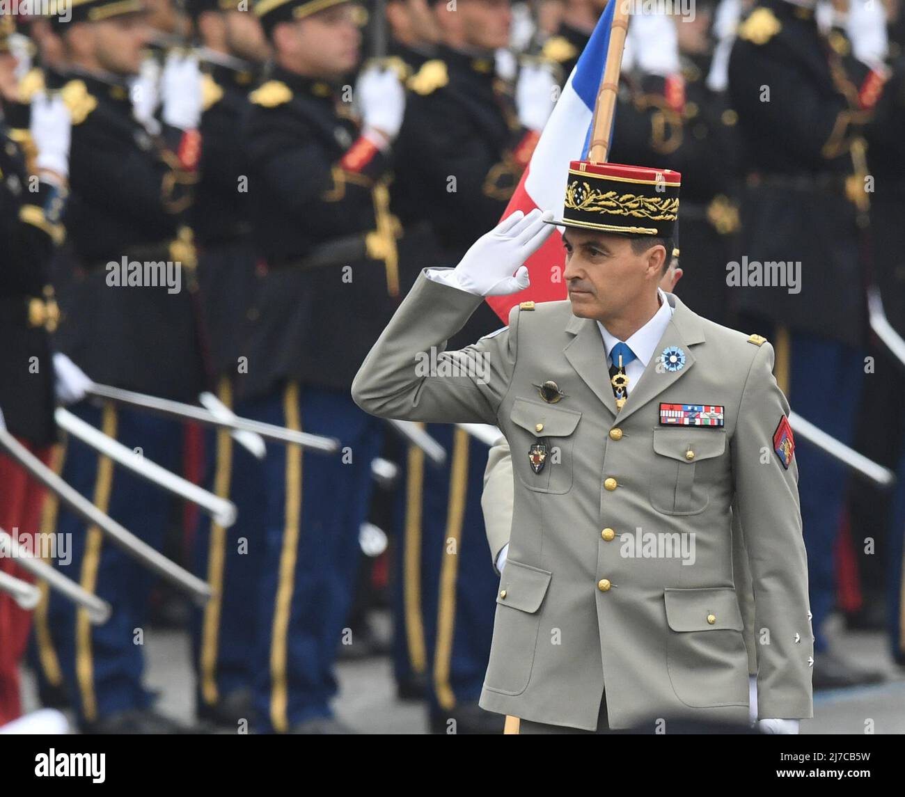
<path fill-rule="evenodd" d="M 233 390 L 224 377 L 219 398 L 233 408 Z M 246 415 L 240 404 L 239 415 Z M 277 445 L 269 443 L 269 445 Z M 250 651 L 258 630 L 258 586 L 262 578 L 264 468 L 228 431 L 205 435 L 205 485 L 236 506 L 233 526 L 218 526 L 199 515 L 195 529 L 195 574 L 214 588 L 214 597 L 195 612 L 192 641 L 198 701 L 214 706 L 239 689 L 252 689 L 256 668 Z"/>

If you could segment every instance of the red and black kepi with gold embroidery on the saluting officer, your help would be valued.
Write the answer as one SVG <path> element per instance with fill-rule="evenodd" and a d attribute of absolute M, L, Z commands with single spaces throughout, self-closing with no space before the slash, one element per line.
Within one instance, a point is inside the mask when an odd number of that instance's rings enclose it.
<path fill-rule="evenodd" d="M 672 238 L 680 185 L 681 174 L 672 169 L 574 160 L 569 164 L 563 215 L 553 223 Z"/>

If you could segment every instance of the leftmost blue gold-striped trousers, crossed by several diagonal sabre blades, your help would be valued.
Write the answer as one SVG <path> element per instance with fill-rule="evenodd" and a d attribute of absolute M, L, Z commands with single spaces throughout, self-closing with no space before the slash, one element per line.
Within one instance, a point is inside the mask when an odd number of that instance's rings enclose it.
<path fill-rule="evenodd" d="M 71 411 L 167 470 L 181 469 L 182 426 L 111 403 L 103 410 L 80 403 Z M 80 441 L 70 440 L 62 477 L 96 506 L 148 545 L 159 548 L 170 508 L 166 492 L 101 459 Z M 45 529 L 50 530 L 50 529 Z M 57 563 L 90 592 L 110 602 L 103 625 L 90 624 L 87 612 L 51 592 L 49 627 L 62 676 L 80 720 L 93 722 L 133 708 L 148 707 L 142 686 L 148 597 L 155 576 L 104 539 L 100 530 L 60 507 L 56 531 L 71 541 L 71 564 Z"/>

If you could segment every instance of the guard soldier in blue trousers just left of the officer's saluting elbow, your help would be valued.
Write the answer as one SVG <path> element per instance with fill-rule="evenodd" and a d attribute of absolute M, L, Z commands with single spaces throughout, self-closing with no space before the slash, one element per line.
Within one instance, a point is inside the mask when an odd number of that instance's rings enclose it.
<path fill-rule="evenodd" d="M 349 386 L 399 294 L 386 185 L 405 96 L 395 71 L 366 70 L 354 91 L 363 126 L 350 118 L 338 87 L 358 61 L 352 5 L 261 0 L 255 13 L 276 64 L 244 128 L 262 256 L 247 412 L 343 446 L 333 457 L 268 450 L 255 707 L 264 730 L 336 733 L 348 729 L 329 706 L 333 666 L 355 641 L 343 623 L 383 430 Z"/>

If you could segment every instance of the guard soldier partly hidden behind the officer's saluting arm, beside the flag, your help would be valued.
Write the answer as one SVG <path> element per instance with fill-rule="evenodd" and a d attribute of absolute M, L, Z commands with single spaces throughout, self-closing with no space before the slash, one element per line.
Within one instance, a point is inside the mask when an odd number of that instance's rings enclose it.
<path fill-rule="evenodd" d="M 439 246 L 404 250 L 404 289 L 424 262 L 453 265 L 505 212 L 556 89 L 548 65 L 522 67 L 516 104 L 495 71 L 494 52 L 509 44 L 509 0 L 433 4 L 442 33 L 437 57 L 409 79 L 405 122 L 395 148 L 395 198 L 406 231 L 429 223 Z M 425 257 L 427 258 L 425 260 Z M 465 344 L 500 327 L 482 307 L 463 331 Z M 396 585 L 396 677 L 407 670 L 429 684 L 431 725 L 442 733 L 499 731 L 478 707 L 492 635 L 496 578 L 483 542 L 484 443 L 448 425 L 428 432 L 448 451 L 442 468 L 407 458 Z"/>

